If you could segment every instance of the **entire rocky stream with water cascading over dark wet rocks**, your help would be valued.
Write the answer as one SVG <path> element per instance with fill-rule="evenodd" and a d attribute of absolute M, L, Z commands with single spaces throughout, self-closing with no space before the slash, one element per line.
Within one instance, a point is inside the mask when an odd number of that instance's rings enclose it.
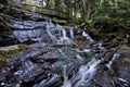
<path fill-rule="evenodd" d="M 0 87 L 130 87 L 118 46 L 106 49 L 83 29 L 31 16 L 8 23 L 15 36 L 8 37 L 28 47 L 0 69 Z"/>

